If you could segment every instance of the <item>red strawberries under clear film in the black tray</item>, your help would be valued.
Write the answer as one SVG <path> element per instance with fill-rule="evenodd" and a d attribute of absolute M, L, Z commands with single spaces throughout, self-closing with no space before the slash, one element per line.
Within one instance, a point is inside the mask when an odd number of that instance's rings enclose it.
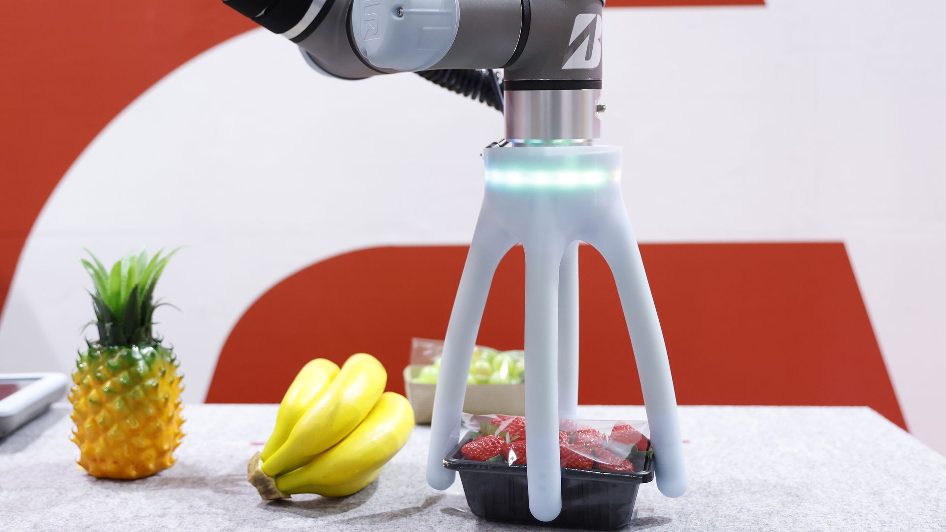
<path fill-rule="evenodd" d="M 460 448 L 466 460 L 528 466 L 526 419 L 521 416 L 464 414 L 469 441 Z M 575 470 L 642 470 L 650 448 L 646 421 L 562 420 L 558 451 L 562 467 Z"/>

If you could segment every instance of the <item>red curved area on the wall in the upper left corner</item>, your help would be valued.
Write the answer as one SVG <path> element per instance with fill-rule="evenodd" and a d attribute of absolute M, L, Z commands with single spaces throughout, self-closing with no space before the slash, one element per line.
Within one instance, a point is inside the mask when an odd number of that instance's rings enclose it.
<path fill-rule="evenodd" d="M 254 27 L 219 0 L 31 0 L 5 11 L 0 310 L 33 222 L 96 134 L 166 74 Z"/>

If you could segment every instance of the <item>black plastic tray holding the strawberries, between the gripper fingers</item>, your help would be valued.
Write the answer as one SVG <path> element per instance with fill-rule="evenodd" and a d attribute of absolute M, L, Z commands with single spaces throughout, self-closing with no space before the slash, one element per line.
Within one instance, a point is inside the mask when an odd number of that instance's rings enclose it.
<path fill-rule="evenodd" d="M 469 440 L 460 441 L 444 467 L 460 473 L 466 504 L 489 521 L 613 530 L 631 523 L 640 484 L 654 480 L 653 456 L 634 472 L 562 468 L 562 512 L 543 522 L 529 512 L 528 466 L 467 460 L 460 448 Z"/>

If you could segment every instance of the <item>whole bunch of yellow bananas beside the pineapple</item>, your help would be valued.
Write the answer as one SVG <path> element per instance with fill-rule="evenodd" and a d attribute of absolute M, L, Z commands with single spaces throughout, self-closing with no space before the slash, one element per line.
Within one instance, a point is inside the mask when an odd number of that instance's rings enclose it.
<path fill-rule="evenodd" d="M 250 460 L 247 480 L 263 499 L 295 493 L 326 497 L 365 488 L 407 443 L 411 403 L 385 392 L 384 366 L 365 353 L 342 368 L 316 359 L 289 386 L 263 452 Z"/>

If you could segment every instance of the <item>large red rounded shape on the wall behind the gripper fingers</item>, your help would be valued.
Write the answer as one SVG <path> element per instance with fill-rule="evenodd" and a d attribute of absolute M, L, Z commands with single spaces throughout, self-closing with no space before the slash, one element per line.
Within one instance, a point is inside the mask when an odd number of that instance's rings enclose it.
<path fill-rule="evenodd" d="M 443 338 L 467 248 L 380 247 L 279 282 L 240 318 L 208 402 L 278 402 L 296 371 L 366 351 L 404 390 L 412 336 Z M 842 243 L 644 244 L 681 404 L 867 405 L 905 427 Z M 604 259 L 580 252 L 583 404 L 639 404 Z M 479 341 L 522 346 L 524 260 L 499 265 Z"/>

